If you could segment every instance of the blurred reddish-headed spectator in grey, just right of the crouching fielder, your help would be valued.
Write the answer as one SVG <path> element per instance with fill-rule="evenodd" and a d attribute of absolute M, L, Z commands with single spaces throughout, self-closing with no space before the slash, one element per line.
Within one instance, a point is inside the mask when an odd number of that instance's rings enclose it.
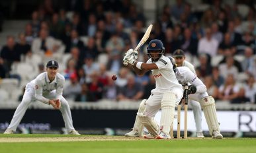
<path fill-rule="evenodd" d="M 69 77 L 70 84 L 64 88 L 64 96 L 67 99 L 75 100 L 75 96 L 81 92 L 81 85 L 77 80 L 77 75 L 73 73 Z"/>

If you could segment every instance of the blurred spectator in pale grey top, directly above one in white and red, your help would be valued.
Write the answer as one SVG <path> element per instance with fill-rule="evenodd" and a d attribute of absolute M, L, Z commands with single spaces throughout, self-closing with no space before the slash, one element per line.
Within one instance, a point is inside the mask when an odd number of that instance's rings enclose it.
<path fill-rule="evenodd" d="M 238 75 L 238 69 L 234 65 L 234 57 L 232 56 L 226 57 L 226 63 L 221 64 L 219 69 L 220 75 L 224 78 L 227 78 L 229 74 L 232 74 L 234 77 Z"/>

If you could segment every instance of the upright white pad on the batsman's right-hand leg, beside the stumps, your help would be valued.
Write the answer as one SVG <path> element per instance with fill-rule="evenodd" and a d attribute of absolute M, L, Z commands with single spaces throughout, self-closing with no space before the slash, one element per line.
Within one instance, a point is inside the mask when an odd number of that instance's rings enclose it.
<path fill-rule="evenodd" d="M 175 94 L 171 91 L 165 92 L 161 100 L 161 119 L 160 131 L 163 133 L 170 132 L 170 126 L 173 123 L 175 113 Z"/>

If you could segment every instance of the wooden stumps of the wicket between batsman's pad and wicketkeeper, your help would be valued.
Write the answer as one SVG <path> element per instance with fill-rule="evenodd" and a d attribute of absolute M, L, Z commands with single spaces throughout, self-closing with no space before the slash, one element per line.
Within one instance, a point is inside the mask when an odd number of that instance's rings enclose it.
<path fill-rule="evenodd" d="M 189 101 L 189 98 L 188 98 L 188 84 L 185 84 L 183 87 L 184 88 L 184 94 L 183 95 L 183 98 L 181 100 L 181 102 L 179 102 L 179 105 L 178 105 L 178 117 L 177 117 L 177 138 L 183 138 L 181 137 L 181 103 L 183 102 L 183 100 L 185 100 L 184 102 L 184 138 L 188 138 L 187 136 L 187 114 L 188 114 L 188 101 Z M 171 131 L 170 131 L 170 136 L 171 138 L 174 138 L 173 137 L 173 123 L 171 124 Z"/>

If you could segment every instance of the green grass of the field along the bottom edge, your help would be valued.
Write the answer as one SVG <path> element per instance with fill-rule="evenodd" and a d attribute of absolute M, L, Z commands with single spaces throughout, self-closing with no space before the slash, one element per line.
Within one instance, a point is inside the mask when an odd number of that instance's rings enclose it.
<path fill-rule="evenodd" d="M 0 135 L 3 138 L 67 138 L 77 137 L 73 135 Z M 82 135 L 90 138 L 95 136 Z M 106 139 L 105 139 L 106 138 Z M 144 140 L 144 139 L 128 139 L 111 140 L 111 138 L 122 137 L 105 137 L 104 140 L 93 141 L 72 141 L 72 142 L 0 142 L 0 152 L 17 152 L 17 153 L 41 153 L 41 152 L 90 152 L 90 153 L 113 153 L 113 152 L 255 152 L 256 138 L 224 138 L 224 139 L 188 139 L 188 140 Z"/>

